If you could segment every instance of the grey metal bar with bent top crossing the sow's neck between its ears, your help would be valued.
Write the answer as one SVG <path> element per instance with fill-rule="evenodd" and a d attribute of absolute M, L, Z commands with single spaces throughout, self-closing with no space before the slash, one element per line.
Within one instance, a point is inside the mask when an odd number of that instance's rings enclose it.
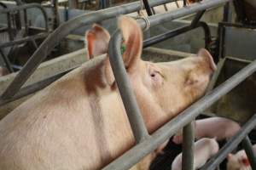
<path fill-rule="evenodd" d="M 111 37 L 108 51 L 111 68 L 115 81 L 117 82 L 119 93 L 122 97 L 125 111 L 129 118 L 131 129 L 137 143 L 148 138 L 148 130 L 143 121 L 143 116 L 137 105 L 137 100 L 131 89 L 131 83 L 127 77 L 122 54 L 120 53 L 122 35 L 120 31 L 115 31 Z"/>

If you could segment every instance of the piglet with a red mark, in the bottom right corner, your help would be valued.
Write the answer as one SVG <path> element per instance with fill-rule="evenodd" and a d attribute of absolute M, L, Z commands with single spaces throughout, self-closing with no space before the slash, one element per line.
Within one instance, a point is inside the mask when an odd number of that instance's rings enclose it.
<path fill-rule="evenodd" d="M 253 145 L 253 151 L 256 152 L 256 144 Z M 229 154 L 227 170 L 251 170 L 250 162 L 245 150 L 240 150 L 236 154 Z"/>

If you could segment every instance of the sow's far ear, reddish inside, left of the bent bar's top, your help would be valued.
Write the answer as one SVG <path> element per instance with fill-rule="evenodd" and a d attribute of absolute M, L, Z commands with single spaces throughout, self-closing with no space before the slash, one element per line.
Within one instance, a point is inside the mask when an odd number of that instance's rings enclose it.
<path fill-rule="evenodd" d="M 107 30 L 94 24 L 85 33 L 85 44 L 89 59 L 108 52 L 108 42 L 110 35 Z"/>

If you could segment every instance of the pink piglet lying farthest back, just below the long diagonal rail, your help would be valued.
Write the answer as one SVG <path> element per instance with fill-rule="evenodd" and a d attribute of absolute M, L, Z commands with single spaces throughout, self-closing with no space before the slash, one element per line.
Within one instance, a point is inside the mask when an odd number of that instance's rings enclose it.
<path fill-rule="evenodd" d="M 195 139 L 215 138 L 230 139 L 240 129 L 237 122 L 222 117 L 211 117 L 195 121 Z M 172 139 L 176 144 L 183 142 L 183 133 L 180 130 Z"/>

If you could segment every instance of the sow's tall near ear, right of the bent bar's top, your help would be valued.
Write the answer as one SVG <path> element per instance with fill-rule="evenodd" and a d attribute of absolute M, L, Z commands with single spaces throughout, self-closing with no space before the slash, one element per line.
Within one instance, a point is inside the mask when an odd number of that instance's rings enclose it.
<path fill-rule="evenodd" d="M 121 16 L 119 18 L 119 29 L 123 34 L 123 47 L 125 51 L 123 59 L 127 71 L 134 71 L 138 65 L 138 61 L 143 49 L 143 33 L 137 21 L 130 17 Z"/>

